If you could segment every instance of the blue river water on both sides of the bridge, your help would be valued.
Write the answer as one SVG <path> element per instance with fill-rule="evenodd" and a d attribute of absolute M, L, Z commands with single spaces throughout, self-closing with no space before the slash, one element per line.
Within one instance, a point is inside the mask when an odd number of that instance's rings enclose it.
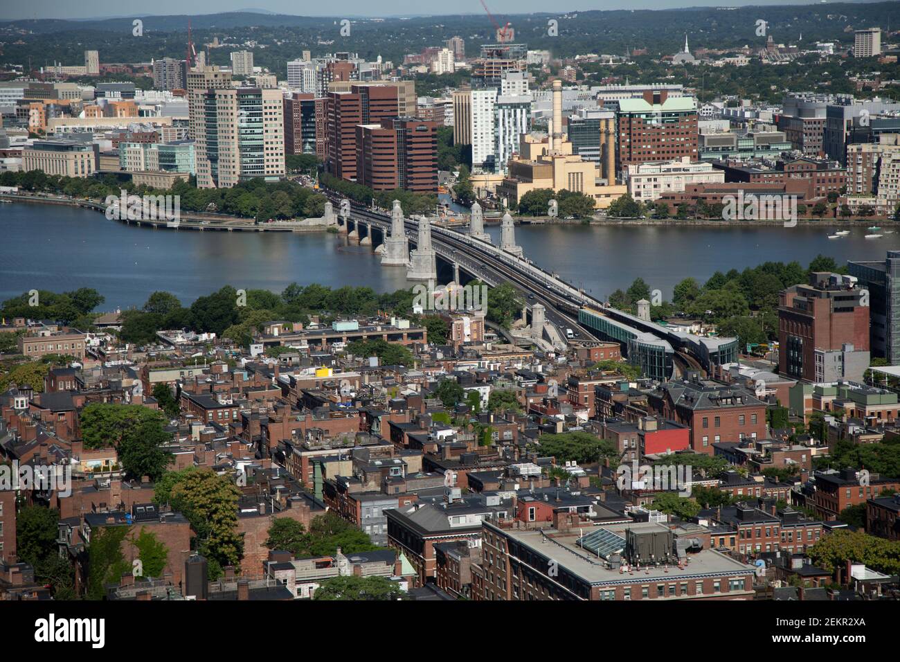
<path fill-rule="evenodd" d="M 671 297 L 680 279 L 700 283 L 716 270 L 739 271 L 769 260 L 796 259 L 804 267 L 819 253 L 847 259 L 884 259 L 900 249 L 892 227 L 866 240 L 869 222 L 829 240 L 833 223 L 773 226 L 518 226 L 516 238 L 536 264 L 591 295 L 625 289 L 635 277 Z M 850 228 L 848 228 L 850 229 Z M 500 226 L 488 231 L 495 243 Z M 326 232 L 172 231 L 108 221 L 101 213 L 46 204 L 0 204 L 0 301 L 31 289 L 62 292 L 94 287 L 101 306 L 140 306 L 155 290 L 190 304 L 221 286 L 280 293 L 301 285 L 369 286 L 379 292 L 408 287 L 404 270 L 383 268 L 369 247 L 347 246 Z"/>

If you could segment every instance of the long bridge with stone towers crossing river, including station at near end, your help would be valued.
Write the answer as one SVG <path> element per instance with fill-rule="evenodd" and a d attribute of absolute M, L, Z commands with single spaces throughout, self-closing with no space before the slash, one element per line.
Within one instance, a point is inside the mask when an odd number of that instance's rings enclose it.
<path fill-rule="evenodd" d="M 392 213 L 385 213 L 337 195 L 329 194 L 329 198 L 332 204 L 343 204 L 337 218 L 340 231 L 346 231 L 351 240 L 371 245 L 383 255 L 383 264 L 407 267 L 410 279 L 439 282 L 438 276 L 443 274 L 443 280 L 462 284 L 461 276 L 467 275 L 489 286 L 516 286 L 526 297 L 523 314 L 528 314 L 533 327 L 543 318 L 544 331 L 557 347 L 564 344 L 560 342 L 563 339 L 616 341 L 630 362 L 660 380 L 681 376 L 687 370 L 709 372 L 715 365 L 737 360 L 737 339 L 672 331 L 610 308 L 538 267 L 515 244 L 509 217 L 504 218 L 498 247 L 483 230 L 480 207 L 473 207 L 470 231 L 464 233 L 428 219 L 406 218 L 396 201 Z M 425 249 L 420 250 L 423 242 Z M 417 248 L 407 254 L 412 244 Z M 567 338 L 569 329 L 572 338 Z"/>

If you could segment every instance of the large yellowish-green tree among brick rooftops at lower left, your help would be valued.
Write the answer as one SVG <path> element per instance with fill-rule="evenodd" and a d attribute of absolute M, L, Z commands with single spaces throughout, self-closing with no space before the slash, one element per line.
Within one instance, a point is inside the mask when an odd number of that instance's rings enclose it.
<path fill-rule="evenodd" d="M 235 566 L 244 554 L 238 534 L 238 488 L 209 468 L 178 472 L 171 488 L 173 510 L 197 533 L 197 549 L 220 566 Z"/>

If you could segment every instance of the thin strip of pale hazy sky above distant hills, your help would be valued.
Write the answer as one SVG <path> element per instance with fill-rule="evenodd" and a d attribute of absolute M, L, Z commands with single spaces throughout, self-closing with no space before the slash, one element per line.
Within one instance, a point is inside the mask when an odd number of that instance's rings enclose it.
<path fill-rule="evenodd" d="M 672 7 L 734 5 L 806 5 L 817 0 L 485 0 L 494 14 L 527 14 L 588 9 L 670 9 Z M 387 16 L 397 14 L 480 14 L 479 0 L 341 0 L 340 3 L 309 0 L 0 0 L 0 20 L 21 18 L 106 18 L 159 14 L 215 14 L 253 7 L 278 14 L 302 16 Z"/>

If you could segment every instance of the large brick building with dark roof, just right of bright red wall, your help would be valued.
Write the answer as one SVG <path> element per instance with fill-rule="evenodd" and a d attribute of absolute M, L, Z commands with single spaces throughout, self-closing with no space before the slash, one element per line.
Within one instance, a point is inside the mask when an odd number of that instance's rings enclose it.
<path fill-rule="evenodd" d="M 669 382 L 647 396 L 653 413 L 690 429 L 690 448 L 714 454 L 713 444 L 767 437 L 766 404 L 747 389 L 699 379 Z"/>

